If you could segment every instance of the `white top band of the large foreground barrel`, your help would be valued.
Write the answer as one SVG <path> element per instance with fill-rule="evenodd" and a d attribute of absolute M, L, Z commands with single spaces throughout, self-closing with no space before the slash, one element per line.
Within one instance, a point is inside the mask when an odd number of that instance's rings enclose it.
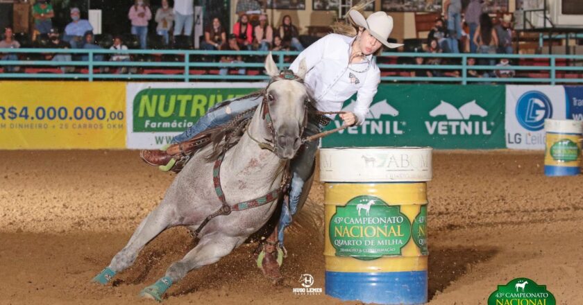
<path fill-rule="evenodd" d="M 321 148 L 323 182 L 425 182 L 432 179 L 430 147 Z"/>

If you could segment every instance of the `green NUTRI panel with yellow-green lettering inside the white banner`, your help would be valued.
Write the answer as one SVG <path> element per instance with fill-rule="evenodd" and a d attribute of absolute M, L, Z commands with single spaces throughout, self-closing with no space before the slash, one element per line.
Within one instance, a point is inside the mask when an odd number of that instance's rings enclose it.
<path fill-rule="evenodd" d="M 134 132 L 183 132 L 209 108 L 257 88 L 148 88 L 133 98 Z"/>

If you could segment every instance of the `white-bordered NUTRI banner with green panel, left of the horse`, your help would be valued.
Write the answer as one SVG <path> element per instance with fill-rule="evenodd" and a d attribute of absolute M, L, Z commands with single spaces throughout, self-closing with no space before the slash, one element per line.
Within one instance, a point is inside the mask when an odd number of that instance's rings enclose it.
<path fill-rule="evenodd" d="M 127 148 L 160 148 L 196 123 L 214 105 L 262 87 L 265 87 L 263 82 L 128 83 Z"/>

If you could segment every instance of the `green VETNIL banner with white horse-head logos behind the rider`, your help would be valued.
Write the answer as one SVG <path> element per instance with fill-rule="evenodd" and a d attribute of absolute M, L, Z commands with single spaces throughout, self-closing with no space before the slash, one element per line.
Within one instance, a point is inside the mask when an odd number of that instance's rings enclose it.
<path fill-rule="evenodd" d="M 343 110 L 352 111 L 355 99 Z M 379 85 L 364 124 L 324 138 L 322 147 L 505 148 L 504 123 L 504 86 Z"/>

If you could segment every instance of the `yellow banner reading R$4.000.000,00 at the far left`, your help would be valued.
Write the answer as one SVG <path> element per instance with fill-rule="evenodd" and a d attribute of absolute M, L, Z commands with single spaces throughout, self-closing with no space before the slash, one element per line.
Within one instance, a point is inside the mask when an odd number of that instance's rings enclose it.
<path fill-rule="evenodd" d="M 0 82 L 0 149 L 126 147 L 125 82 Z"/>

